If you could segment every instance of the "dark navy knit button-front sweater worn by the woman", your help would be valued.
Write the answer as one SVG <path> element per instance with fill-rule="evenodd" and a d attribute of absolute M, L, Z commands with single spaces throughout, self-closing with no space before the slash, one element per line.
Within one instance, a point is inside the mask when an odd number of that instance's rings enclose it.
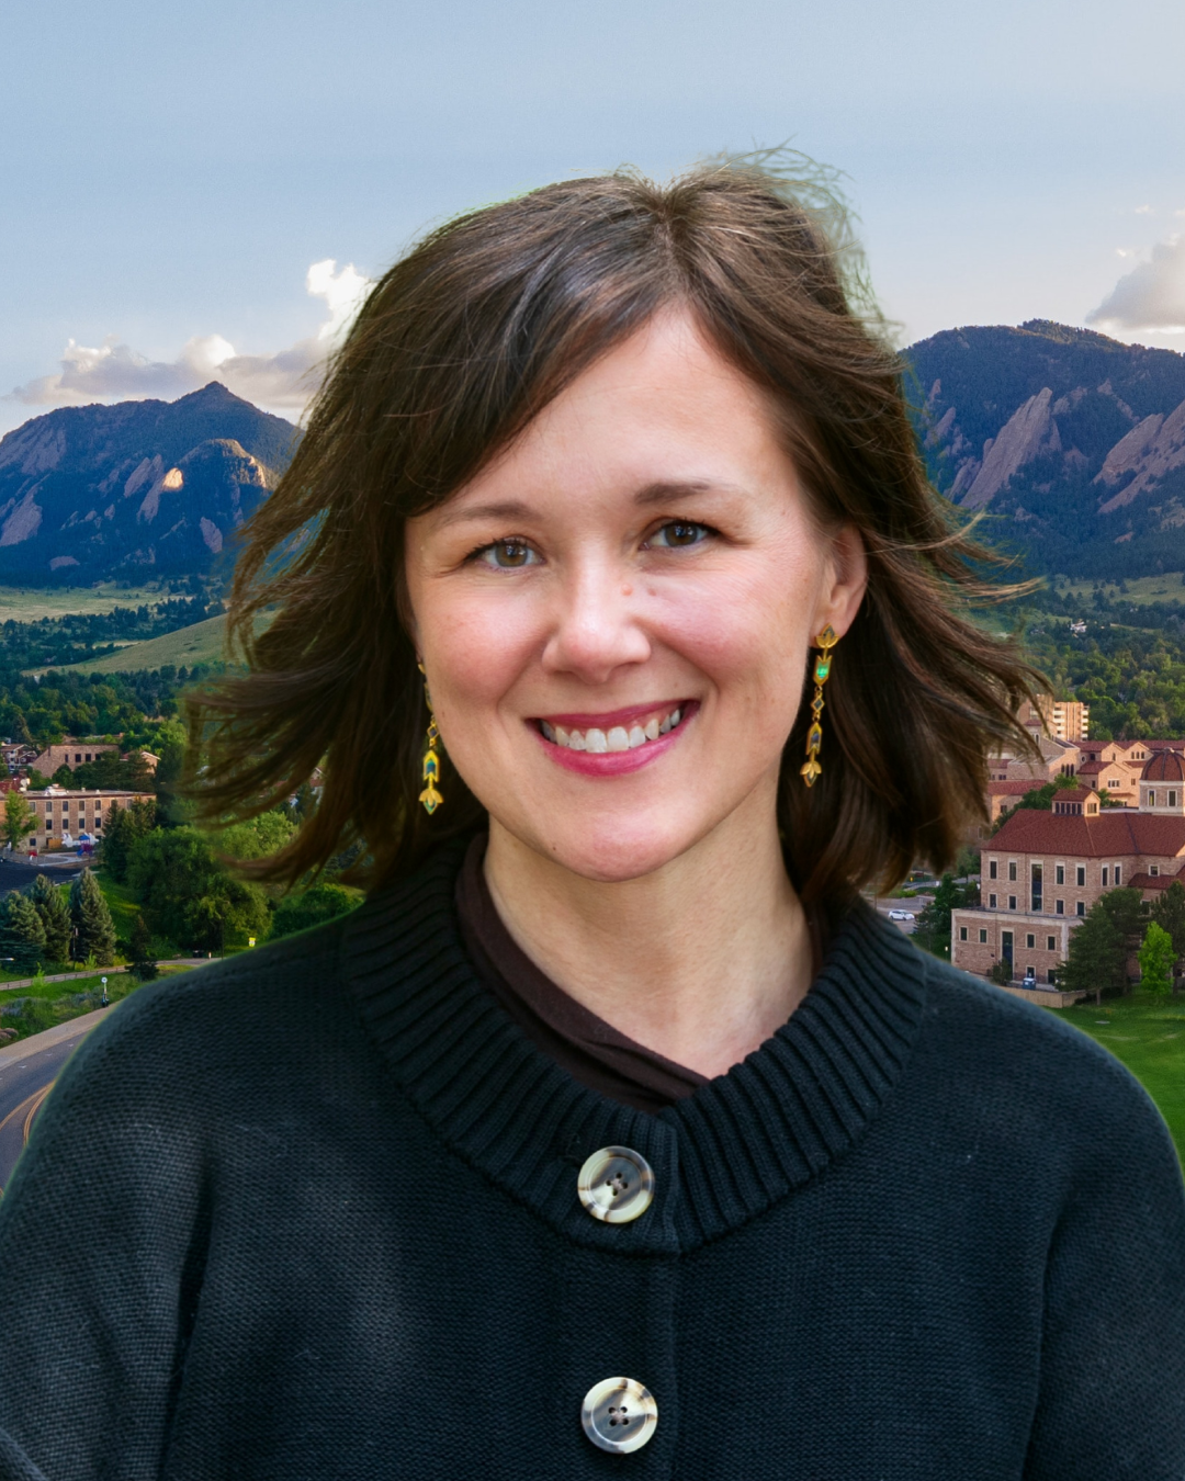
<path fill-rule="evenodd" d="M 477 982 L 459 856 L 74 1056 L 0 1210 L 3 1481 L 1181 1481 L 1185 1201 L 1115 1060 L 855 908 L 635 1111 Z M 606 1146 L 630 1223 L 578 1198 Z"/>

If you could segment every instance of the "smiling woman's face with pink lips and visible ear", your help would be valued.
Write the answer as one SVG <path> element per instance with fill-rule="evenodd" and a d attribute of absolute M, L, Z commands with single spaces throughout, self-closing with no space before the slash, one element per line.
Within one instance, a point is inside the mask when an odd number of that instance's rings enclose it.
<path fill-rule="evenodd" d="M 407 529 L 449 760 L 496 823 L 591 880 L 772 826 L 810 640 L 847 629 L 864 582 L 763 392 L 678 312 Z"/>

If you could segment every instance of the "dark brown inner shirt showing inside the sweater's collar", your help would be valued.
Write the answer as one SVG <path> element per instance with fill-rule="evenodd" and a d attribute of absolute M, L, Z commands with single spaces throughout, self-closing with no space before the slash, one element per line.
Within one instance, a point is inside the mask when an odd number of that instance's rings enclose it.
<path fill-rule="evenodd" d="M 661 1111 L 705 1086 L 707 1075 L 627 1038 L 535 966 L 502 924 L 486 884 L 484 857 L 486 834 L 478 834 L 456 881 L 461 936 L 481 985 L 527 1038 L 573 1080 L 635 1111 Z M 822 932 L 813 915 L 809 926 L 812 976 L 816 976 Z"/>

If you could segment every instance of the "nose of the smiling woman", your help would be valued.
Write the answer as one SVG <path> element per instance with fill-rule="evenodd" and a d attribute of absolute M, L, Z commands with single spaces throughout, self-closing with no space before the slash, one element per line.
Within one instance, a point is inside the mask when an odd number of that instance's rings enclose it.
<path fill-rule="evenodd" d="M 650 658 L 635 582 L 612 563 L 572 570 L 555 588 L 554 600 L 544 646 L 548 672 L 604 684 L 624 663 Z"/>

